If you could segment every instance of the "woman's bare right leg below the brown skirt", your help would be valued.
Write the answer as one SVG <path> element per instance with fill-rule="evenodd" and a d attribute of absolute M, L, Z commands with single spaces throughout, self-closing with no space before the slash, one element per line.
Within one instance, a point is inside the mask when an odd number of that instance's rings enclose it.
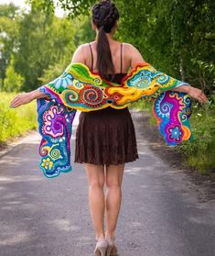
<path fill-rule="evenodd" d="M 124 175 L 124 163 L 106 166 L 105 205 L 107 226 L 105 236 L 113 238 L 122 202 L 121 185 Z"/>

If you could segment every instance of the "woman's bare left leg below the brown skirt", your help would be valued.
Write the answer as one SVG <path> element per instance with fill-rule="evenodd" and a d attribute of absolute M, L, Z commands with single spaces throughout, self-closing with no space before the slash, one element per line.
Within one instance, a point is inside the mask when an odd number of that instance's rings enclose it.
<path fill-rule="evenodd" d="M 104 238 L 104 166 L 84 163 L 88 176 L 89 206 L 96 239 Z"/>

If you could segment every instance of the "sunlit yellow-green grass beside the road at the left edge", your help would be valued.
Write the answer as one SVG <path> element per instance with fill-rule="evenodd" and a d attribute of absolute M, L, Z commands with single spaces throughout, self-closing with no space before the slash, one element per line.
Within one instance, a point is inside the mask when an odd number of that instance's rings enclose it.
<path fill-rule="evenodd" d="M 38 128 L 36 101 L 17 108 L 10 108 L 10 101 L 15 95 L 14 93 L 0 92 L 0 145 L 11 138 Z"/>

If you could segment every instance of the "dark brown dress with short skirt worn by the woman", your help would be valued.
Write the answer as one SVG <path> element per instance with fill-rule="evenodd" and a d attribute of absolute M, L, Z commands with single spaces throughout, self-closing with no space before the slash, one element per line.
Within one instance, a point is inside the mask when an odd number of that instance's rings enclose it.
<path fill-rule="evenodd" d="M 114 74 L 121 83 L 126 73 Z M 138 159 L 134 123 L 128 107 L 81 112 L 76 130 L 75 162 L 120 164 Z"/>

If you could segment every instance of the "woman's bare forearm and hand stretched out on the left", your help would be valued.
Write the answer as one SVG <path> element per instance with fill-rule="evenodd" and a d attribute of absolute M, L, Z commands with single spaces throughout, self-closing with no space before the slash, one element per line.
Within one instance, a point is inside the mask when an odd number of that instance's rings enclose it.
<path fill-rule="evenodd" d="M 13 100 L 10 102 L 10 107 L 17 107 L 21 106 L 24 104 L 30 103 L 34 99 L 39 99 L 39 98 L 46 98 L 47 95 L 43 94 L 40 92 L 38 89 L 31 91 L 29 93 L 23 93 L 16 95 Z"/>

